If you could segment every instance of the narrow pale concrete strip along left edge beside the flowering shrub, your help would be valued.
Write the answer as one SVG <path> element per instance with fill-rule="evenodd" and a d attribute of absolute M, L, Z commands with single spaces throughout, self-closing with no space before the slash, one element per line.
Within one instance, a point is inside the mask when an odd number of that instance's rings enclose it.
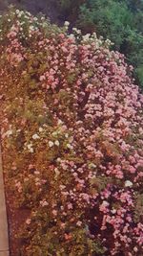
<path fill-rule="evenodd" d="M 10 256 L 8 220 L 7 220 L 7 210 L 6 210 L 6 198 L 5 198 L 5 191 L 4 191 L 1 147 L 0 147 L 0 256 Z"/>

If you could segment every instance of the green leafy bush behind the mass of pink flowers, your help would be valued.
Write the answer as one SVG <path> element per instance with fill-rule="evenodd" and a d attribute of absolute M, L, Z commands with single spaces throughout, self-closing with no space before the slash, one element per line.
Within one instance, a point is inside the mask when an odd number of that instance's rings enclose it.
<path fill-rule="evenodd" d="M 110 38 L 114 49 L 124 53 L 143 85 L 143 4 L 141 1 L 89 0 L 79 6 L 79 25 L 83 30 L 94 29 L 98 35 Z"/>

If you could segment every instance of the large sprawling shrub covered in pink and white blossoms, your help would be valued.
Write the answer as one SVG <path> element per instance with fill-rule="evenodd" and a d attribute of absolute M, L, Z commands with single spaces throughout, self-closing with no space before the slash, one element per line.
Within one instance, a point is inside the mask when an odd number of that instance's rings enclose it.
<path fill-rule="evenodd" d="M 68 25 L 0 18 L 5 184 L 24 213 L 13 255 L 141 256 L 143 95 L 109 40 Z"/>

